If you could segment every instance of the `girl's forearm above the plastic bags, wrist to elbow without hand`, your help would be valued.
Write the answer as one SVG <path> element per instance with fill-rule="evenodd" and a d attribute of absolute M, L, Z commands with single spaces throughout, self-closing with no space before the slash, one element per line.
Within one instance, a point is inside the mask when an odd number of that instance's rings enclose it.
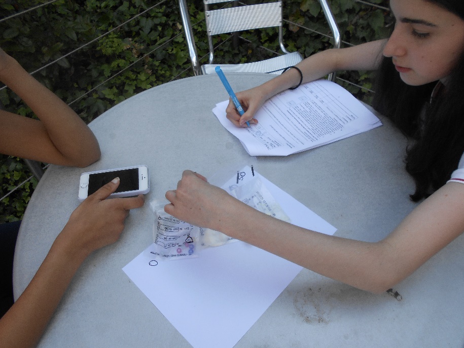
<path fill-rule="evenodd" d="M 239 201 L 227 206 L 224 214 L 215 212 L 217 220 L 211 224 L 228 236 L 363 290 L 381 293 L 396 282 L 397 274 L 388 267 L 388 248 L 383 242 L 317 233 L 262 214 Z"/>

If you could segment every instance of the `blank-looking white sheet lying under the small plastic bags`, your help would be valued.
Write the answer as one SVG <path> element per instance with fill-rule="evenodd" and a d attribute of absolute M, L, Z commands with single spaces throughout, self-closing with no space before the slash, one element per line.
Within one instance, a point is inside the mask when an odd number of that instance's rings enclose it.
<path fill-rule="evenodd" d="M 261 180 L 294 225 L 335 233 L 288 193 Z M 153 244 L 123 270 L 194 348 L 232 348 L 302 269 L 242 241 L 187 260 L 152 262 L 152 249 Z"/>

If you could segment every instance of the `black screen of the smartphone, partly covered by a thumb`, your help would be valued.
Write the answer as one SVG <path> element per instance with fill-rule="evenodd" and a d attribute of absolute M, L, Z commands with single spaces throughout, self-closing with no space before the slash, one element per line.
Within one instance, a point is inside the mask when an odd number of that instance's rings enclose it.
<path fill-rule="evenodd" d="M 119 177 L 119 187 L 115 192 L 138 190 L 138 168 L 131 168 L 90 174 L 87 194 L 90 196 L 100 187 L 108 184 L 116 177 Z"/>

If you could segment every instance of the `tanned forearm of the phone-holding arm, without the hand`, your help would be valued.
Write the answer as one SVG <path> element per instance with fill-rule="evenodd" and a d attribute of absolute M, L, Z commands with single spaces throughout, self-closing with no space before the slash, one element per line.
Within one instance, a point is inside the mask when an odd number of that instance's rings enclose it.
<path fill-rule="evenodd" d="M 0 319 L 0 346 L 37 344 L 54 310 L 86 254 L 63 246 L 59 236 L 32 281 Z"/>

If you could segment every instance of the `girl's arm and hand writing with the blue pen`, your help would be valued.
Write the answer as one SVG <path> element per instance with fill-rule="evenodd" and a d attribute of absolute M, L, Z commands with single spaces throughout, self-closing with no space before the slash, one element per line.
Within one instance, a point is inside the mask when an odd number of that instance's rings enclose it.
<path fill-rule="evenodd" d="M 378 40 L 349 48 L 318 52 L 296 65 L 303 74 L 302 83 L 320 79 L 339 70 L 376 70 L 385 42 L 386 40 Z M 289 69 L 260 86 L 237 93 L 237 98 L 246 112 L 240 117 L 233 103 L 229 102 L 227 118 L 237 126 L 246 127 L 246 121 L 257 123 L 253 116 L 264 102 L 273 95 L 296 86 L 299 81 L 298 71 Z"/>

